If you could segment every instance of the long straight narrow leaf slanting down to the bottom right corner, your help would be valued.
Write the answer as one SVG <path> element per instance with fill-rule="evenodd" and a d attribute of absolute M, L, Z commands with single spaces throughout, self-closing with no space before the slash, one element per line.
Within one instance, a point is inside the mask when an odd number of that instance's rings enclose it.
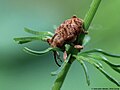
<path fill-rule="evenodd" d="M 101 73 L 103 73 L 107 79 L 109 79 L 111 82 L 115 83 L 117 86 L 120 86 L 120 83 L 116 79 L 114 79 L 111 75 L 109 75 L 104 69 L 102 69 L 101 66 L 98 65 L 97 63 L 95 63 L 92 60 L 89 60 L 89 58 L 86 58 L 83 56 L 79 56 L 79 59 L 82 59 L 82 60 L 89 62 L 94 67 L 96 67 Z"/>

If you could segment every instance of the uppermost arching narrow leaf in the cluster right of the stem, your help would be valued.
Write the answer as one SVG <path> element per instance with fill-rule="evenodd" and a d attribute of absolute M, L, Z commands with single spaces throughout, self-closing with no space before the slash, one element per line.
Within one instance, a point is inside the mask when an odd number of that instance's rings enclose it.
<path fill-rule="evenodd" d="M 93 49 L 93 50 L 85 51 L 85 52 L 83 52 L 83 53 L 95 53 L 95 52 L 98 52 L 98 53 L 101 53 L 101 54 L 104 54 L 104 55 L 110 56 L 110 57 L 120 58 L 120 55 L 111 54 L 111 53 L 105 52 L 105 51 L 102 50 L 102 49 Z"/>

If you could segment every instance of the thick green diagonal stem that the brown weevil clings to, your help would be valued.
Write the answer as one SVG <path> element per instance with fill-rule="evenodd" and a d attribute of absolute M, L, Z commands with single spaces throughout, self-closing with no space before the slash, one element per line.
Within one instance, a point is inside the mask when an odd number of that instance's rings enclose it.
<path fill-rule="evenodd" d="M 90 9 L 88 10 L 85 18 L 84 18 L 84 29 L 87 31 L 91 22 L 92 22 L 92 19 L 98 9 L 98 6 L 100 4 L 101 0 L 93 0 L 92 3 L 91 3 L 91 6 L 90 6 Z M 82 44 L 83 42 L 83 39 L 84 39 L 84 34 L 83 35 L 80 35 L 80 37 L 78 38 L 80 42 L 80 44 Z M 70 47 L 71 49 L 71 47 Z M 79 51 L 75 52 L 74 54 L 77 54 Z M 73 53 L 73 51 L 71 50 L 70 53 Z M 72 62 L 74 61 L 74 59 L 71 57 L 69 59 L 69 62 Z M 62 84 L 65 80 L 65 77 L 69 71 L 69 68 L 70 68 L 70 63 L 66 63 L 65 67 L 64 67 L 64 71 L 61 70 L 60 73 L 58 73 L 57 75 L 57 79 L 55 80 L 54 84 L 53 84 L 53 87 L 52 87 L 52 90 L 60 90 L 60 88 L 62 87 Z"/>

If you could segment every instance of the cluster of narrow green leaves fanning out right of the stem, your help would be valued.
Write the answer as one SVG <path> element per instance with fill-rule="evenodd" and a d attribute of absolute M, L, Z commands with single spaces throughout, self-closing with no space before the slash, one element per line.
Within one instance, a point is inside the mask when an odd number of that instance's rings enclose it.
<path fill-rule="evenodd" d="M 91 52 L 92 51 L 92 52 Z M 100 51 L 99 53 L 104 54 L 106 56 L 110 57 L 120 57 L 120 55 L 110 54 L 105 52 L 102 49 L 94 49 L 86 52 L 80 52 L 78 55 L 73 55 L 78 61 L 87 61 L 88 63 L 92 64 L 95 68 L 97 68 L 101 73 L 103 73 L 111 82 L 115 83 L 117 86 L 120 86 L 120 83 L 114 79 L 111 75 L 109 75 L 104 69 L 100 62 L 96 61 L 103 61 L 106 64 L 108 64 L 113 70 L 120 73 L 120 64 L 113 64 L 110 61 L 108 61 L 103 55 L 96 54 L 96 51 Z M 88 80 L 88 77 L 87 77 Z"/>

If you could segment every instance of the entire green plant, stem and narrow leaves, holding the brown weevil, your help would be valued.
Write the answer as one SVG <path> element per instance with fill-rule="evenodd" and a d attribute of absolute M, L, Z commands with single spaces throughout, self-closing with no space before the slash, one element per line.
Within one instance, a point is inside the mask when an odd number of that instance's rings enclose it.
<path fill-rule="evenodd" d="M 86 31 L 88 30 L 88 28 L 92 22 L 92 19 L 98 9 L 100 2 L 101 2 L 101 0 L 93 0 L 89 11 L 87 12 L 87 14 L 84 18 L 84 29 Z M 28 28 L 25 28 L 25 31 L 30 34 L 33 34 L 35 36 L 14 38 L 14 40 L 17 41 L 19 44 L 28 43 L 28 42 L 32 42 L 35 40 L 47 42 L 47 39 L 51 38 L 53 36 L 53 34 L 51 32 L 38 32 L 38 31 L 30 30 Z M 83 46 L 85 46 L 89 42 L 89 40 L 90 40 L 90 37 L 85 36 L 85 34 L 82 34 L 78 37 L 78 43 L 82 44 Z M 79 52 L 79 50 L 75 49 L 70 44 L 65 45 L 65 50 L 68 54 L 67 60 L 65 60 L 63 62 L 62 66 L 57 71 L 51 73 L 52 76 L 56 76 L 56 80 L 53 84 L 52 90 L 60 90 L 60 88 L 65 80 L 65 77 L 67 75 L 67 72 L 68 72 L 72 62 L 75 59 L 82 65 L 83 70 L 85 72 L 85 76 L 86 76 L 86 82 L 88 85 L 90 85 L 90 79 L 89 79 L 88 70 L 87 70 L 87 66 L 85 65 L 85 62 L 92 64 L 101 73 L 103 73 L 103 75 L 105 75 L 107 79 L 109 79 L 111 82 L 115 83 L 117 86 L 120 86 L 120 83 L 115 78 L 113 78 L 111 75 L 109 75 L 103 69 L 103 65 L 100 63 L 100 61 L 103 61 L 106 64 L 108 64 L 113 70 L 120 73 L 120 65 L 111 63 L 109 60 L 107 60 L 103 56 L 103 55 L 106 55 L 106 56 L 110 56 L 110 57 L 120 58 L 120 55 L 110 54 L 108 52 L 105 52 L 102 49 L 93 49 L 93 50 L 89 50 L 89 51 L 85 51 L 85 52 L 82 52 L 82 51 Z M 31 49 L 25 47 L 24 51 L 26 51 L 30 54 L 34 54 L 34 55 L 42 55 L 42 54 L 45 54 L 50 51 L 64 52 L 60 48 L 52 48 L 52 47 L 49 47 L 43 51 L 34 51 L 34 50 L 31 50 Z M 100 55 L 97 53 L 100 53 Z"/>

